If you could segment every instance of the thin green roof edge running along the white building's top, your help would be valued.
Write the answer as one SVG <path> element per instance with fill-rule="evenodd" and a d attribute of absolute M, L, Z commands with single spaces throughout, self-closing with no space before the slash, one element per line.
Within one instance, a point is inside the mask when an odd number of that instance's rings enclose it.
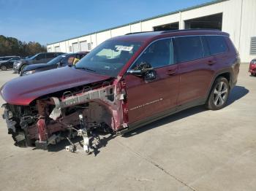
<path fill-rule="evenodd" d="M 105 31 L 110 31 L 110 30 L 113 30 L 113 29 L 116 29 L 116 28 L 121 28 L 121 27 L 124 27 L 124 26 L 133 25 L 133 24 L 136 24 L 136 23 L 140 23 L 140 22 L 143 22 L 143 21 L 156 19 L 156 18 L 159 18 L 159 17 L 165 17 L 165 16 L 168 16 L 168 15 L 174 15 L 174 14 L 176 14 L 178 12 L 185 12 L 185 11 L 189 11 L 191 9 L 197 9 L 197 8 L 200 8 L 200 7 L 206 7 L 206 6 L 211 5 L 211 4 L 218 4 L 218 3 L 223 2 L 223 1 L 229 1 L 229 0 L 214 0 L 214 1 L 210 1 L 210 2 L 204 3 L 204 4 L 195 5 L 193 7 L 188 7 L 188 8 L 185 8 L 185 9 L 178 9 L 178 10 L 173 11 L 173 12 L 167 12 L 167 13 L 162 14 L 162 15 L 157 15 L 157 16 L 154 16 L 154 17 L 148 17 L 148 18 L 143 19 L 143 20 L 137 20 L 135 22 L 127 23 L 127 24 L 124 24 L 124 25 L 121 25 L 121 26 L 116 26 L 116 27 L 113 27 L 113 28 L 107 28 L 107 29 L 104 29 L 104 30 L 101 30 L 101 31 L 94 31 L 92 33 L 83 34 L 81 36 L 75 36 L 75 37 L 72 37 L 72 38 L 69 38 L 69 39 L 61 40 L 59 42 L 64 42 L 64 41 L 68 41 L 68 40 L 72 40 L 72 39 L 78 39 L 78 38 L 83 37 L 83 36 L 89 36 L 91 34 L 102 33 L 102 32 L 105 32 Z M 47 45 L 56 44 L 56 43 L 59 43 L 59 42 L 52 42 L 52 43 L 49 43 Z"/>

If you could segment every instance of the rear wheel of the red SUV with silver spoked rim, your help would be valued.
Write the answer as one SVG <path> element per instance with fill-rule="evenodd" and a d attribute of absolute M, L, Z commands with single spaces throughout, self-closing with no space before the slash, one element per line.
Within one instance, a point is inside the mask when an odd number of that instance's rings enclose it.
<path fill-rule="evenodd" d="M 206 108 L 211 110 L 222 109 L 227 104 L 230 86 L 225 77 L 218 77 L 211 88 L 211 93 L 206 102 Z"/>

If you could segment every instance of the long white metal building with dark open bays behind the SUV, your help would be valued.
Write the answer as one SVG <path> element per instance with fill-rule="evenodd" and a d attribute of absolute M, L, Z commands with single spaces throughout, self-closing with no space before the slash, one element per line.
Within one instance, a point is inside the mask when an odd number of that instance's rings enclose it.
<path fill-rule="evenodd" d="M 217 28 L 230 34 L 242 62 L 256 58 L 256 0 L 219 0 L 47 45 L 48 52 L 90 51 L 113 36 L 140 31 Z"/>

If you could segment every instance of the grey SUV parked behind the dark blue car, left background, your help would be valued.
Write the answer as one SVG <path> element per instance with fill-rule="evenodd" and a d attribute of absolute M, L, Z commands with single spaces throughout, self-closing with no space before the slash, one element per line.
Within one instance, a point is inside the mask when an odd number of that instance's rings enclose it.
<path fill-rule="evenodd" d="M 13 70 L 15 73 L 20 74 L 25 66 L 37 63 L 47 63 L 48 61 L 56 58 L 58 55 L 63 55 L 64 52 L 42 52 L 34 55 L 30 58 L 21 59 L 13 64 Z"/>

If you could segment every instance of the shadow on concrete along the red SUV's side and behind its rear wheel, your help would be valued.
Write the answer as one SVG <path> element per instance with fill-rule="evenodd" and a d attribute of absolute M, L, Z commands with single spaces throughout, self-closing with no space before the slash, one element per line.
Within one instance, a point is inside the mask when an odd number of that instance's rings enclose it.
<path fill-rule="evenodd" d="M 247 93 L 249 93 L 249 90 L 247 90 L 245 87 L 242 87 L 242 86 L 233 87 L 233 90 L 231 90 L 231 92 L 230 92 L 230 97 L 227 100 L 227 106 L 229 106 L 230 104 L 233 104 L 233 102 L 238 101 L 239 99 L 243 98 L 244 95 L 246 95 Z M 165 124 L 170 123 L 170 122 L 174 122 L 174 121 L 177 121 L 177 120 L 182 120 L 182 119 L 184 119 L 186 117 L 189 117 L 193 114 L 198 114 L 200 112 L 205 112 L 206 110 L 207 109 L 204 106 L 195 106 L 195 107 L 192 107 L 190 109 L 186 109 L 182 112 L 178 112 L 176 114 L 165 117 L 161 120 L 151 122 L 150 124 L 145 125 L 141 128 L 138 128 L 138 129 L 132 130 L 128 133 L 125 133 L 124 137 L 135 136 L 135 135 L 138 135 L 140 133 L 143 133 L 146 130 L 151 130 L 153 128 L 157 128 L 161 125 L 165 125 Z"/>

